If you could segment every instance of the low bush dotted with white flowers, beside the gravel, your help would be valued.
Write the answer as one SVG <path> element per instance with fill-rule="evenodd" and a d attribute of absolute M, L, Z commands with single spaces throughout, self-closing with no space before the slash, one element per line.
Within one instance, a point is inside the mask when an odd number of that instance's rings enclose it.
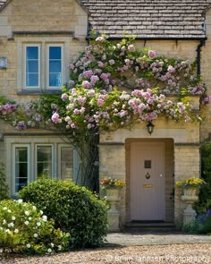
<path fill-rule="evenodd" d="M 69 236 L 55 229 L 53 220 L 48 220 L 32 204 L 22 200 L 0 201 L 0 251 L 65 251 Z"/>

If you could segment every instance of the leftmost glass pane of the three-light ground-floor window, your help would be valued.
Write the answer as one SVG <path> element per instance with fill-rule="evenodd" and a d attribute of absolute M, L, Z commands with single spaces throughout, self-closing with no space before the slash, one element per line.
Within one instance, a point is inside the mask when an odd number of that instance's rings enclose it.
<path fill-rule="evenodd" d="M 28 184 L 28 149 L 15 148 L 15 192 Z"/>

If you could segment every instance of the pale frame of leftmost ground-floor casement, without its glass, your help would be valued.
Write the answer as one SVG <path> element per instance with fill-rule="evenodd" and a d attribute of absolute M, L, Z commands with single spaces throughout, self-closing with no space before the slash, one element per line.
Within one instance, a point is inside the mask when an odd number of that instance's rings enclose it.
<path fill-rule="evenodd" d="M 27 184 L 29 185 L 29 183 L 31 182 L 31 148 L 30 148 L 30 144 L 14 144 L 13 145 L 13 166 L 12 166 L 12 175 L 13 175 L 13 193 L 17 194 L 17 192 L 15 192 L 15 149 L 19 149 L 19 148 L 26 148 L 27 149 L 27 158 L 28 158 L 28 166 L 27 166 Z"/>

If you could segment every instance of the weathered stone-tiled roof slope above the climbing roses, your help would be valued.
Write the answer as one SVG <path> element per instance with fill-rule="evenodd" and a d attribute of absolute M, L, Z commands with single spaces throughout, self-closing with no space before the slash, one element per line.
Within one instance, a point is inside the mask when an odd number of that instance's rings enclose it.
<path fill-rule="evenodd" d="M 205 38 L 210 0 L 84 0 L 94 30 L 111 38 Z"/>

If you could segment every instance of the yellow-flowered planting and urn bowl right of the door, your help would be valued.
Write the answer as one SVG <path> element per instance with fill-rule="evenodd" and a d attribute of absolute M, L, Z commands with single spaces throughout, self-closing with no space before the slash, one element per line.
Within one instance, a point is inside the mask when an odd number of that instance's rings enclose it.
<path fill-rule="evenodd" d="M 176 182 L 176 187 L 183 188 L 185 196 L 197 196 L 199 188 L 204 186 L 206 182 L 203 179 L 190 177 L 185 180 Z"/>

